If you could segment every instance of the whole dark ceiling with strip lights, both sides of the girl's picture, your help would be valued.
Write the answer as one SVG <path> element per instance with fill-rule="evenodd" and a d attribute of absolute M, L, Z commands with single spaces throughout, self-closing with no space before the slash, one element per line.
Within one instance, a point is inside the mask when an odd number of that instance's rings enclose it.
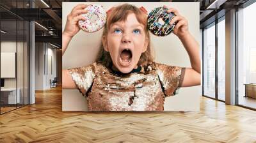
<path fill-rule="evenodd" d="M 62 2 L 74 0 L 1 0 L 0 15 L 1 29 L 12 34 L 22 34 L 24 27 L 23 22 L 12 24 L 13 20 L 35 20 L 36 41 L 46 41 L 54 43 L 61 47 L 61 17 L 62 17 Z M 75 0 L 82 1 L 82 0 Z M 96 1 L 96 0 L 95 0 Z M 98 0 L 100 1 L 100 0 Z M 104 1 L 104 0 L 101 0 Z M 117 0 L 112 0 L 117 1 Z M 135 0 L 134 0 L 135 1 Z M 140 0 L 146 1 L 146 0 Z M 153 0 L 154 1 L 154 0 Z M 162 0 L 170 1 L 170 0 Z M 217 12 L 239 6 L 248 0 L 172 0 L 173 2 L 200 2 L 200 27 L 204 27 L 214 20 L 214 15 Z M 147 0 L 148 2 L 148 0 Z M 33 8 L 32 8 L 33 7 Z M 219 15 L 221 16 L 221 15 Z M 213 18 L 212 18 L 213 17 Z M 15 22 L 14 22 L 15 23 Z M 21 24 L 21 25 L 20 25 Z M 40 26 L 40 25 L 41 26 Z M 42 27 L 43 26 L 43 27 Z M 45 28 L 46 29 L 45 29 Z M 6 36 L 6 35 L 5 35 Z M 8 36 L 6 36 L 8 37 Z"/>

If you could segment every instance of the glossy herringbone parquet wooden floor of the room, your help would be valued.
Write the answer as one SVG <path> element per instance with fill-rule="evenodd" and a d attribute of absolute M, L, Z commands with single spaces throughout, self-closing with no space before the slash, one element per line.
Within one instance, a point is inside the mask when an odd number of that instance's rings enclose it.
<path fill-rule="evenodd" d="M 1 115 L 0 142 L 256 142 L 256 112 L 205 97 L 200 112 L 62 112 L 59 87 Z"/>

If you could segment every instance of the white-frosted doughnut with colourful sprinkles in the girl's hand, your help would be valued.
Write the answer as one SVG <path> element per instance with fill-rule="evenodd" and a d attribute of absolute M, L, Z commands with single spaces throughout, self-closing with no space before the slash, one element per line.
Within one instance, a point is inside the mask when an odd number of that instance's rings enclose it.
<path fill-rule="evenodd" d="M 88 13 L 81 14 L 86 20 L 79 20 L 78 26 L 88 33 L 99 31 L 106 23 L 107 13 L 104 8 L 98 4 L 91 4 L 85 8 Z M 93 15 L 97 16 L 97 20 L 91 22 Z"/>

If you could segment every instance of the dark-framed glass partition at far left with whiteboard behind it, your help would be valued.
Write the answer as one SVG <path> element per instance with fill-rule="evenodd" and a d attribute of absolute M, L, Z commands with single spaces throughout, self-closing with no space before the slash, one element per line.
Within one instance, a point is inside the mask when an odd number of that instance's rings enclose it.
<path fill-rule="evenodd" d="M 27 8 L 29 1 L 1 1 L 12 10 Z M 0 8 L 1 80 L 0 114 L 23 107 L 29 103 L 29 22 L 11 11 Z M 3 14 L 4 13 L 4 14 Z M 6 65 L 6 61 L 12 63 Z M 14 65 L 14 66 L 12 66 Z M 11 70 L 6 70 L 5 67 Z"/>

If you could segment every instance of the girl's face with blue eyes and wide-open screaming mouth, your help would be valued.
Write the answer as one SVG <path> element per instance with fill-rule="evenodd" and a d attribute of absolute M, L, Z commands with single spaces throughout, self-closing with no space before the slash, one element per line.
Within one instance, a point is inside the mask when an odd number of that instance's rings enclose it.
<path fill-rule="evenodd" d="M 113 66 L 122 73 L 129 73 L 137 68 L 141 53 L 147 50 L 143 24 L 140 24 L 134 13 L 130 13 L 125 21 L 118 21 L 103 36 L 104 50 L 110 53 Z"/>

